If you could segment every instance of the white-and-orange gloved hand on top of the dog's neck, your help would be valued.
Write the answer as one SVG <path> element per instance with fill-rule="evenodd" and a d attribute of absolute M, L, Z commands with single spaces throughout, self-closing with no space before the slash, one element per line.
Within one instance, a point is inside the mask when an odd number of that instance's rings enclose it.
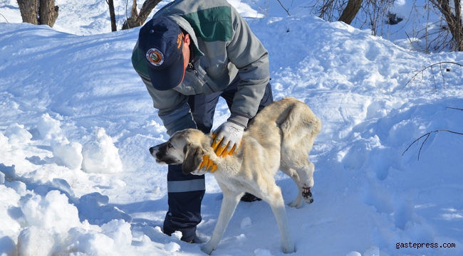
<path fill-rule="evenodd" d="M 244 127 L 234 122 L 224 122 L 212 133 L 212 149 L 217 156 L 233 154 L 239 147 L 243 138 Z"/>

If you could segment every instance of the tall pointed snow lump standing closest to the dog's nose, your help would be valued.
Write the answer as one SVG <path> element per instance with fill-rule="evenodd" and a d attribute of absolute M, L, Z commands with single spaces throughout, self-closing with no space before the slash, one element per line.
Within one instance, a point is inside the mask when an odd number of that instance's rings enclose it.
<path fill-rule="evenodd" d="M 96 129 L 95 138 L 83 145 L 82 155 L 85 172 L 114 174 L 123 170 L 119 151 L 103 128 Z"/>

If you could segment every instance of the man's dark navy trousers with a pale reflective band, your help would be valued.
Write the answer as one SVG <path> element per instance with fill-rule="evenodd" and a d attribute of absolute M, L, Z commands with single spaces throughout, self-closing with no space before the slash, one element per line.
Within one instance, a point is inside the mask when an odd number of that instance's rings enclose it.
<path fill-rule="evenodd" d="M 237 91 L 236 78 L 223 92 L 211 95 L 189 96 L 188 104 L 192 110 L 197 128 L 204 133 L 212 129 L 214 112 L 219 97 L 223 97 L 230 107 Z M 271 85 L 268 84 L 259 111 L 273 102 Z M 191 241 L 196 234 L 196 226 L 201 222 L 201 201 L 205 192 L 204 175 L 184 175 L 180 164 L 170 165 L 167 172 L 167 197 L 169 210 L 164 220 L 164 233 L 171 235 L 176 230 L 182 232 L 182 240 Z"/>

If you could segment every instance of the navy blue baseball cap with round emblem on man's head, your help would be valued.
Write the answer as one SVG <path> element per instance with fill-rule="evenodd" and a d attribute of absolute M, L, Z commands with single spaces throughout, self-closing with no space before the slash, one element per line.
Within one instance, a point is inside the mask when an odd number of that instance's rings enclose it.
<path fill-rule="evenodd" d="M 170 90 L 183 80 L 183 33 L 166 17 L 152 18 L 140 28 L 138 48 L 145 53 L 152 86 Z"/>

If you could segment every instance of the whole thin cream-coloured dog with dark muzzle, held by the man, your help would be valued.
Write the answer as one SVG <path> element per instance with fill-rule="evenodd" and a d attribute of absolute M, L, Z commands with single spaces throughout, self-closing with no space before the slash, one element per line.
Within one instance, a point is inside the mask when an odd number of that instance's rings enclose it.
<path fill-rule="evenodd" d="M 197 129 L 184 129 L 170 139 L 150 148 L 150 154 L 160 164 L 182 164 L 184 174 L 202 175 L 211 171 L 199 169 L 203 157 L 217 164 L 212 175 L 224 195 L 219 218 L 209 242 L 202 251 L 211 254 L 217 248 L 225 228 L 245 192 L 269 203 L 281 235 L 283 252 L 295 252 L 286 220 L 281 188 L 275 183 L 280 169 L 298 187 L 296 199 L 289 204 L 300 208 L 303 201 L 313 202 L 313 171 L 308 161 L 313 141 L 321 131 L 321 120 L 310 107 L 293 97 L 272 102 L 256 114 L 244 132 L 239 149 L 232 155 L 217 156 L 211 147 L 212 134 Z"/>

